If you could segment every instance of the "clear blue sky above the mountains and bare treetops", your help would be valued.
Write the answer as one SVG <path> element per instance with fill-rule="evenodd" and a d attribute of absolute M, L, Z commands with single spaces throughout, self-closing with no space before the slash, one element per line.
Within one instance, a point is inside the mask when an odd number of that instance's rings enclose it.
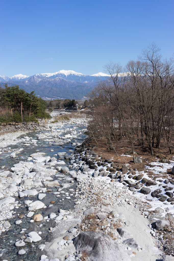
<path fill-rule="evenodd" d="M 173 0 L 1 0 L 0 75 L 104 72 L 150 43 L 174 52 Z"/>

